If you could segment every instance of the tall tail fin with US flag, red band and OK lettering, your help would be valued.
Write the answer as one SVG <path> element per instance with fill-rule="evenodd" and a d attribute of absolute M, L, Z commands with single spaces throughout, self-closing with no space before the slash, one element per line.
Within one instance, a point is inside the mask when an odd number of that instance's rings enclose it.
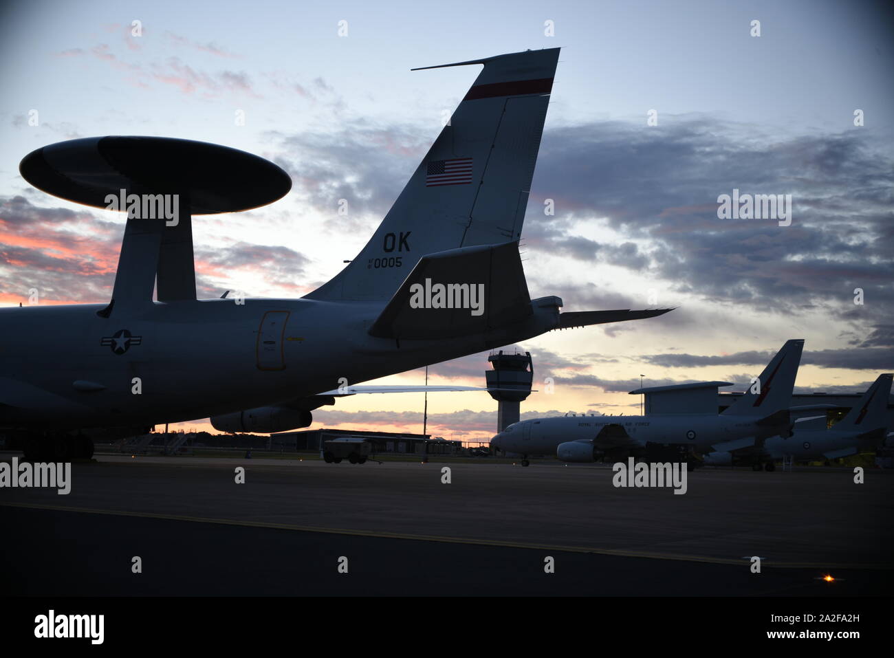
<path fill-rule="evenodd" d="M 427 254 L 519 240 L 558 59 L 444 64 L 484 68 L 367 246 L 308 299 L 391 299 Z"/>

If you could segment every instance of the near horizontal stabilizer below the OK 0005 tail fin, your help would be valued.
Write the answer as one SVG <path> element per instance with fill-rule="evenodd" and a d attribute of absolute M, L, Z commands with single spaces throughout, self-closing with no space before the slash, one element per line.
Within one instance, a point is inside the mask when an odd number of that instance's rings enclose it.
<path fill-rule="evenodd" d="M 532 312 L 518 242 L 448 249 L 419 259 L 369 334 L 455 338 L 518 323 Z"/>

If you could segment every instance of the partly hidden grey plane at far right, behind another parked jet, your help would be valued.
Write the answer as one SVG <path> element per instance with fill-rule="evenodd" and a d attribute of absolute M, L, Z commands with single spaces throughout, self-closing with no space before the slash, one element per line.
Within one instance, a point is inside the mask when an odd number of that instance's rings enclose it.
<path fill-rule="evenodd" d="M 763 445 L 704 455 L 704 463 L 730 466 L 734 463 L 770 464 L 787 457 L 793 461 L 836 460 L 859 451 L 880 447 L 888 437 L 888 404 L 891 378 L 879 375 L 848 414 L 826 429 L 826 416 L 800 418 L 790 436 L 773 436 Z M 803 422 L 802 422 L 803 421 Z"/>

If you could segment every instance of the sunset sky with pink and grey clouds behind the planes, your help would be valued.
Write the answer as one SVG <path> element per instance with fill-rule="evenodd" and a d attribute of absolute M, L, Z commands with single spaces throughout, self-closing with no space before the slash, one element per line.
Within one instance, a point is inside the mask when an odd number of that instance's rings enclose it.
<path fill-rule="evenodd" d="M 797 392 L 862 392 L 894 370 L 892 28 L 873 2 L 3 4 L 0 304 L 101 303 L 114 283 L 122 215 L 30 187 L 35 148 L 157 135 L 272 160 L 286 197 L 194 221 L 198 289 L 295 298 L 363 247 L 478 69 L 410 68 L 561 46 L 522 232 L 531 296 L 676 309 L 508 346 L 534 358 L 522 418 L 634 413 L 640 375 L 742 390 L 789 338 L 806 340 Z M 720 219 L 734 189 L 791 194 L 791 224 Z M 483 386 L 486 357 L 430 384 Z M 432 394 L 428 428 L 486 440 L 495 409 Z M 314 416 L 420 432 L 422 396 Z"/>

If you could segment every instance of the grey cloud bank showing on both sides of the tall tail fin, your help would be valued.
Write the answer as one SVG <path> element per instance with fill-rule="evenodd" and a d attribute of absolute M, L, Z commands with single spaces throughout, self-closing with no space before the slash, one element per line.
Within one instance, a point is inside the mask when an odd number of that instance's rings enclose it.
<path fill-rule="evenodd" d="M 280 164 L 299 194 L 333 215 L 333 225 L 370 231 L 430 139 L 409 124 L 303 131 L 282 137 L 292 155 Z M 627 122 L 552 128 L 544 134 L 523 240 L 531 257 L 619 266 L 647 277 L 662 300 L 707 303 L 714 326 L 743 313 L 786 322 L 824 316 L 848 340 L 881 346 L 892 340 L 883 327 L 894 309 L 892 168 L 894 159 L 863 131 L 786 137 L 704 116 L 675 117 L 660 130 Z M 791 194 L 792 224 L 718 219 L 717 198 L 733 189 Z M 340 198 L 359 217 L 334 218 Z M 556 215 L 544 215 L 545 198 L 554 200 Z M 582 233 L 603 224 L 610 240 Z M 586 279 L 562 281 L 561 271 L 529 269 L 532 294 L 559 294 L 569 303 L 565 310 L 654 306 L 645 286 L 643 299 L 635 299 L 618 286 L 601 290 Z M 855 304 L 856 289 L 863 304 Z M 688 331 L 704 320 L 704 306 L 690 305 L 662 316 L 662 326 Z"/>

